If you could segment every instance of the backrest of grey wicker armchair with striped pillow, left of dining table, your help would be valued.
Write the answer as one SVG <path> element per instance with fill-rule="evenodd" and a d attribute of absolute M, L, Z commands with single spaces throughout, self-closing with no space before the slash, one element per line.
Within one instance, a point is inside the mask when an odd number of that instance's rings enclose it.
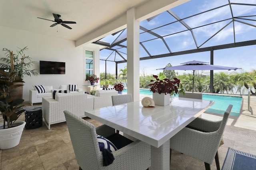
<path fill-rule="evenodd" d="M 64 114 L 77 163 L 82 169 L 100 169 L 102 154 L 95 126 L 69 111 L 64 111 Z"/>

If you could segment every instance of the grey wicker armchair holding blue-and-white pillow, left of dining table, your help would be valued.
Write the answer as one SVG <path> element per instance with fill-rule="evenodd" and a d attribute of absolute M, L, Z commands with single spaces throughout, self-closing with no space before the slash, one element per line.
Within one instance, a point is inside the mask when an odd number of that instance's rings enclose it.
<path fill-rule="evenodd" d="M 64 111 L 64 114 L 80 169 L 143 170 L 151 166 L 150 145 L 142 141 L 132 142 L 112 152 L 115 158 L 114 162 L 108 166 L 103 166 L 103 157 L 99 149 L 97 134 L 107 138 L 115 133 L 115 129 L 107 125 L 95 129 L 94 125 L 69 111 Z"/>

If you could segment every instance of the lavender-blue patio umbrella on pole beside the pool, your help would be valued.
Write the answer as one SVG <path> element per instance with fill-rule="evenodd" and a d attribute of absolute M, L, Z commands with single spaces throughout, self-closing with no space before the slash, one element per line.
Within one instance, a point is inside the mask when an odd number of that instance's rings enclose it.
<path fill-rule="evenodd" d="M 192 92 L 194 92 L 194 75 L 195 70 L 237 70 L 240 68 L 228 67 L 228 66 L 217 66 L 213 64 L 206 64 L 204 61 L 188 61 L 186 63 L 181 63 L 183 65 L 172 66 L 166 68 L 158 68 L 156 70 L 193 70 L 193 87 Z"/>

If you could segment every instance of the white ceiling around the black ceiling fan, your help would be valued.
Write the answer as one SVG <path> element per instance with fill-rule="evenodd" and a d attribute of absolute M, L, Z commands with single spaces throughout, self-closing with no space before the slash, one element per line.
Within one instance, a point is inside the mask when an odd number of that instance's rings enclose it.
<path fill-rule="evenodd" d="M 158 0 L 1 0 L 0 25 L 76 41 L 126 14 L 128 9 L 144 3 L 149 4 L 148 2 L 151 1 L 158 2 Z M 184 1 L 187 0 L 180 0 L 178 3 Z M 168 0 L 163 2 L 167 3 Z M 170 0 L 168 3 L 171 4 Z M 160 7 L 156 6 L 156 10 L 159 9 Z M 50 27 L 54 22 L 37 18 L 54 20 L 52 13 L 60 14 L 63 21 L 76 21 L 76 24 L 66 24 L 72 29 L 62 25 Z"/>

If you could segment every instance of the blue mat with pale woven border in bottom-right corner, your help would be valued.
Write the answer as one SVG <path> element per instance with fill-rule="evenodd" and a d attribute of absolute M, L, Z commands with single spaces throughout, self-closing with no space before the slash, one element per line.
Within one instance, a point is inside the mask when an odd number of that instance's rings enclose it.
<path fill-rule="evenodd" d="M 256 155 L 228 148 L 222 170 L 256 170 Z"/>

